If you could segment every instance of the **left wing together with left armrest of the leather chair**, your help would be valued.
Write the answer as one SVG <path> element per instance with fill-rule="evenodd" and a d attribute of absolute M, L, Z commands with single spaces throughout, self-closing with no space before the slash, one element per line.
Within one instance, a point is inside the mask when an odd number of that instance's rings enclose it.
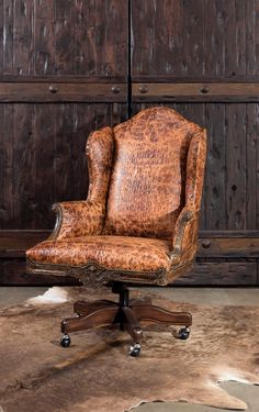
<path fill-rule="evenodd" d="M 56 203 L 52 240 L 99 235 L 105 218 L 105 201 L 113 155 L 113 131 L 103 127 L 90 134 L 87 144 L 89 191 L 87 200 Z M 93 163 L 94 162 L 94 163 Z"/>

